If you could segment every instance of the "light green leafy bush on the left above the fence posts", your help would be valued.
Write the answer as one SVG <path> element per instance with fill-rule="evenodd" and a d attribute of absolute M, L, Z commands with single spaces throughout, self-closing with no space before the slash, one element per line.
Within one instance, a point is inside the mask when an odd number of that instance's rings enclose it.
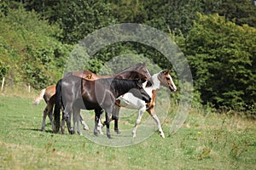
<path fill-rule="evenodd" d="M 57 26 L 49 26 L 47 20 L 39 20 L 38 14 L 22 8 L 9 9 L 0 23 L 0 59 L 11 65 L 9 80 L 45 88 L 60 77 L 62 68 L 57 65 L 63 65 L 61 58 L 67 57 L 69 47 L 56 40 L 61 32 Z"/>

